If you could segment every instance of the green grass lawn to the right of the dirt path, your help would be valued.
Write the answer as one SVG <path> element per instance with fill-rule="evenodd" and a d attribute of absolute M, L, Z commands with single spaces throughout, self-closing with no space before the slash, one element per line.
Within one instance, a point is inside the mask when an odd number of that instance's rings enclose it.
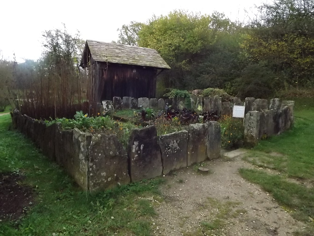
<path fill-rule="evenodd" d="M 311 222 L 314 218 L 314 99 L 290 99 L 295 100 L 293 128 L 261 141 L 245 157 L 252 164 L 276 170 L 278 174 L 255 169 L 241 169 L 240 173 L 272 193 L 296 219 Z"/>

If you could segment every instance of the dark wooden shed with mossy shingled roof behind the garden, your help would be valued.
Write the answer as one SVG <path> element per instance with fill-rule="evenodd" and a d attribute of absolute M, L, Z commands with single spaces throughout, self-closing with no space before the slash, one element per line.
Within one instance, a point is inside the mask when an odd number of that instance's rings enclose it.
<path fill-rule="evenodd" d="M 156 77 L 170 66 L 151 48 L 86 40 L 80 64 L 87 68 L 89 101 L 113 97 L 155 98 Z"/>

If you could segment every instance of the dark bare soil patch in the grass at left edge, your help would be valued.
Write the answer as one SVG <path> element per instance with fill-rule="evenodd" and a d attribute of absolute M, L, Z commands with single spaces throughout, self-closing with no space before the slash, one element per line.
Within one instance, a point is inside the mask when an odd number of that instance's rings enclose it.
<path fill-rule="evenodd" d="M 32 204 L 34 191 L 21 183 L 23 176 L 0 173 L 0 221 L 17 220 Z"/>

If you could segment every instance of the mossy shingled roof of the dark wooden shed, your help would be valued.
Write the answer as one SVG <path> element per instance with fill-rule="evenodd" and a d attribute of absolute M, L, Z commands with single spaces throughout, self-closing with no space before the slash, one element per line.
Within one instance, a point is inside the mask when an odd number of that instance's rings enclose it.
<path fill-rule="evenodd" d="M 155 49 L 95 40 L 86 40 L 81 66 L 85 64 L 84 58 L 87 58 L 87 47 L 95 61 L 170 69 Z"/>

